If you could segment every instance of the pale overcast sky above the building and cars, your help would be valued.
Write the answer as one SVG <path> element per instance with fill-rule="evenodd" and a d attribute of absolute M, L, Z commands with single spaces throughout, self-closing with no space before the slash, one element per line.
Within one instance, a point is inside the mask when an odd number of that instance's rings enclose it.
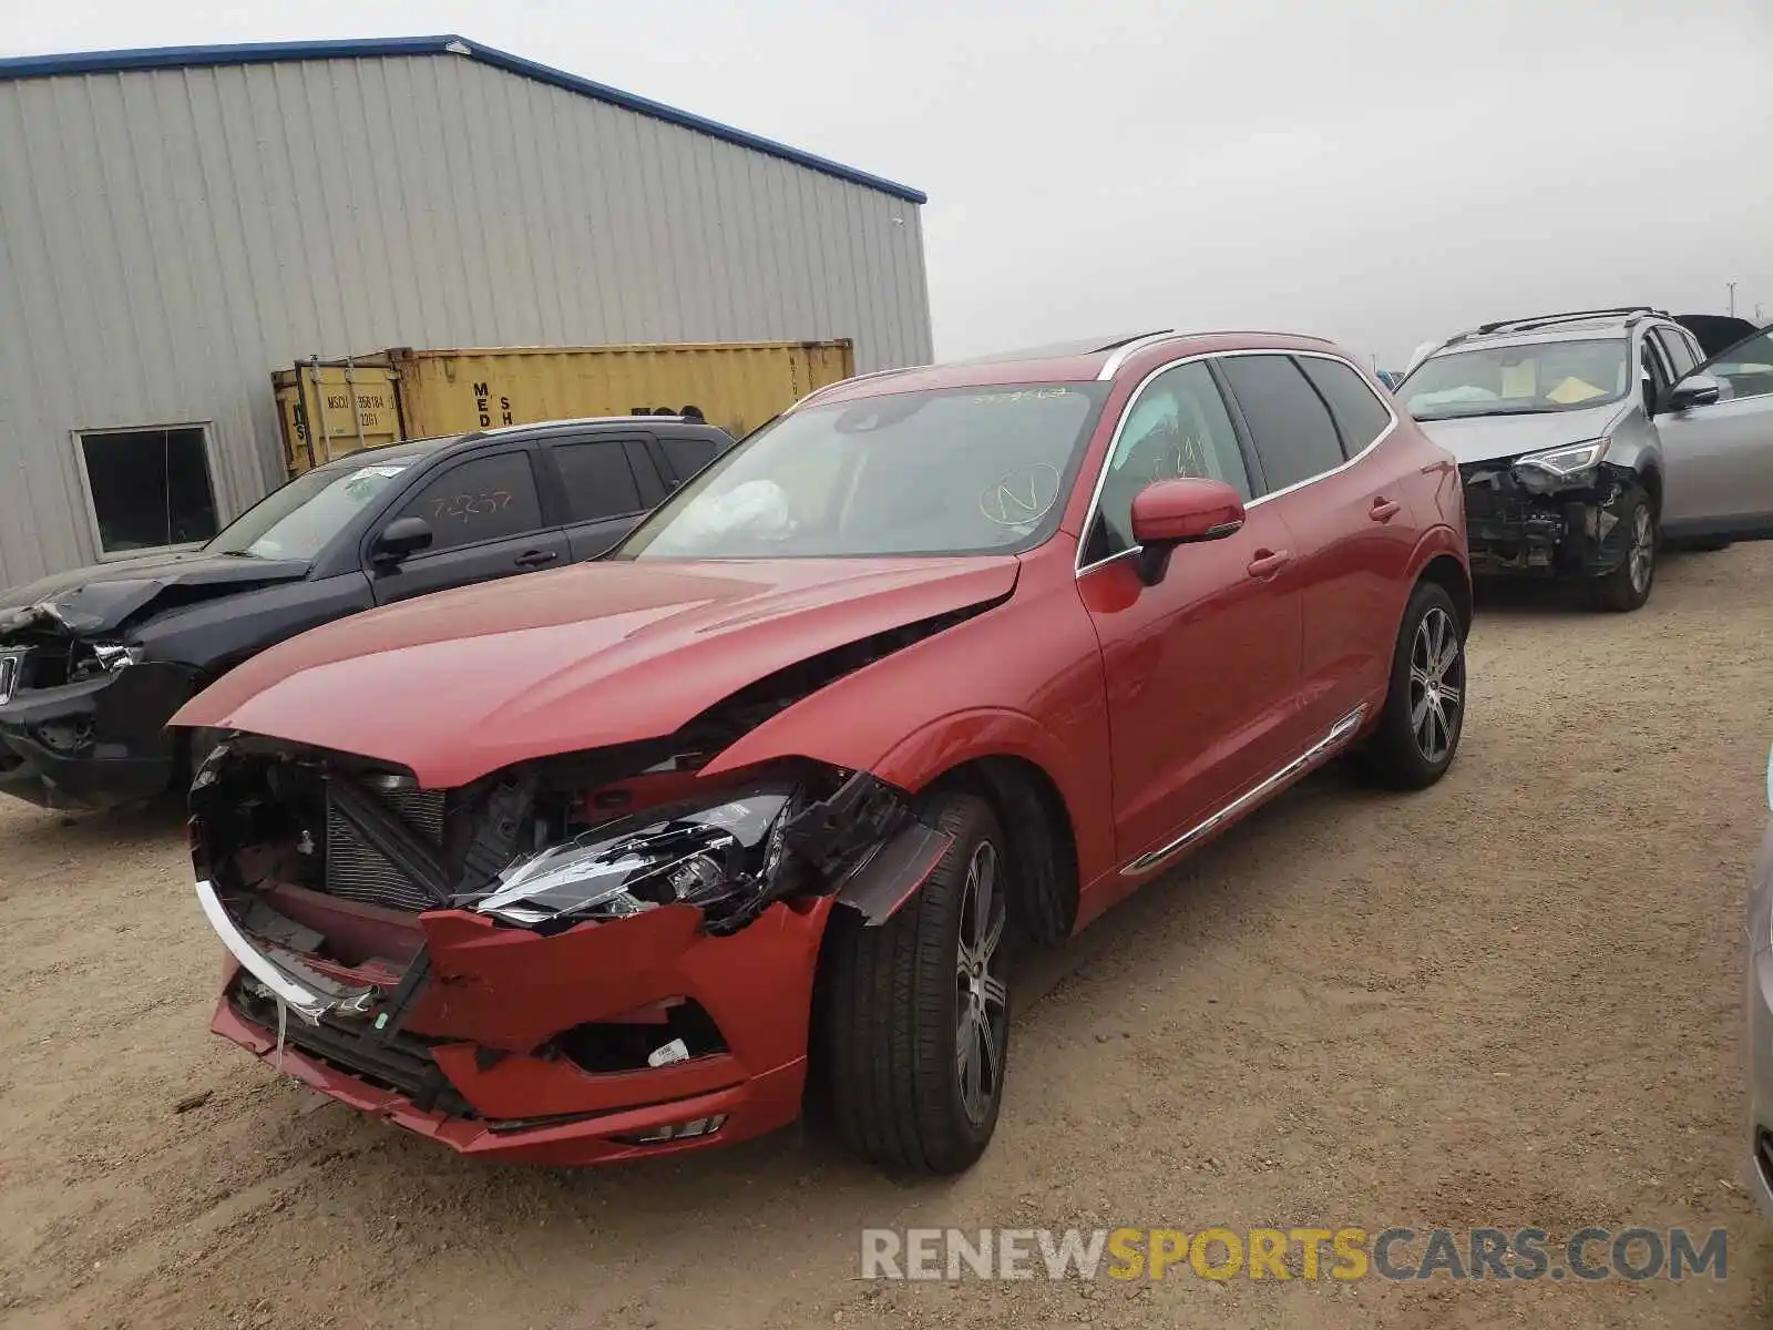
<path fill-rule="evenodd" d="M 929 193 L 938 356 L 1773 319 L 1773 0 L 0 0 L 9 55 L 456 32 Z"/>

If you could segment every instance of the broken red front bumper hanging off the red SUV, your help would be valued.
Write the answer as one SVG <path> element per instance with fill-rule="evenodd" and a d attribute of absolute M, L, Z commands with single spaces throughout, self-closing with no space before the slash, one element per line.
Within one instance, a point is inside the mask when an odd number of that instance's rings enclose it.
<path fill-rule="evenodd" d="M 402 1023 L 378 1029 L 381 1004 L 280 1013 L 241 965 L 211 1030 L 463 1154 L 585 1165 L 730 1144 L 800 1114 L 828 910 L 775 906 L 730 938 L 699 935 L 690 906 L 555 938 L 426 915 L 431 982 Z M 635 1066 L 610 1066 L 622 1052 Z"/>

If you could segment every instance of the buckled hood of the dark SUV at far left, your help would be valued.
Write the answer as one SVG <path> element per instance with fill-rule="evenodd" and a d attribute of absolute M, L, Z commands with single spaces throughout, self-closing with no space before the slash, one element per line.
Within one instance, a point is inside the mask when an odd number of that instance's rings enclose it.
<path fill-rule="evenodd" d="M 167 599 L 190 605 L 275 582 L 300 582 L 307 575 L 309 566 L 300 560 L 202 552 L 94 564 L 0 591 L 0 635 L 43 622 L 76 635 L 108 633 L 144 610 L 154 612 L 154 601 L 174 587 L 177 594 Z"/>

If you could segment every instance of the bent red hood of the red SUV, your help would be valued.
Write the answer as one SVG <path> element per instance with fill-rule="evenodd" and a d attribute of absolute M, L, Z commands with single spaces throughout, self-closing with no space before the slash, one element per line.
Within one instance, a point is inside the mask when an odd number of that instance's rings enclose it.
<path fill-rule="evenodd" d="M 660 738 L 739 688 L 1007 596 L 1012 557 L 596 562 L 353 615 L 222 676 L 174 718 L 461 786 Z M 988 669 L 988 661 L 980 661 Z"/>

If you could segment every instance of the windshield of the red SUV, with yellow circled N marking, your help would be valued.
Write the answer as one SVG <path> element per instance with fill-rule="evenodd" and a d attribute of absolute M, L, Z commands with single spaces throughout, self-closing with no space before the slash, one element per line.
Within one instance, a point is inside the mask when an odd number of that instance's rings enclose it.
<path fill-rule="evenodd" d="M 1099 383 L 807 406 L 713 463 L 615 559 L 1012 553 L 1058 525 Z"/>

